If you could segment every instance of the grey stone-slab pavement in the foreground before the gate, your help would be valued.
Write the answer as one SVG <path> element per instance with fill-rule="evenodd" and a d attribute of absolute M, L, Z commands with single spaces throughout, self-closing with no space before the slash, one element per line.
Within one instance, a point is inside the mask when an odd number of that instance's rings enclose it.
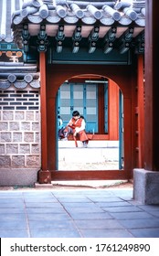
<path fill-rule="evenodd" d="M 0 191 L 1 238 L 159 238 L 159 206 L 127 189 Z"/>

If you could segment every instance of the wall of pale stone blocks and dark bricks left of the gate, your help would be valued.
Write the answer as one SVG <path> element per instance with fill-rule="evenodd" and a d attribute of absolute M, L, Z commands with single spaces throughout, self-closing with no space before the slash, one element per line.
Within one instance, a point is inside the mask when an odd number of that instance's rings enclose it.
<path fill-rule="evenodd" d="M 0 169 L 40 166 L 39 90 L 0 90 Z"/>

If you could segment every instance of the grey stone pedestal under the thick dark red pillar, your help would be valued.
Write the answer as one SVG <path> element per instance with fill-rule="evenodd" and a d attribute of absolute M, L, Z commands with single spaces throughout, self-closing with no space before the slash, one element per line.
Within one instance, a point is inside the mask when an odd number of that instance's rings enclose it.
<path fill-rule="evenodd" d="M 159 204 L 159 172 L 133 170 L 133 199 L 145 205 Z"/>

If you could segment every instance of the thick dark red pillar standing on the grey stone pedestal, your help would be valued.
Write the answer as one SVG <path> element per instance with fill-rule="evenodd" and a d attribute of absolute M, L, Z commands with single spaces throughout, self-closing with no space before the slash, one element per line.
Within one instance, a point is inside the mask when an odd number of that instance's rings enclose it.
<path fill-rule="evenodd" d="M 159 1 L 146 1 L 144 168 L 159 171 Z"/>

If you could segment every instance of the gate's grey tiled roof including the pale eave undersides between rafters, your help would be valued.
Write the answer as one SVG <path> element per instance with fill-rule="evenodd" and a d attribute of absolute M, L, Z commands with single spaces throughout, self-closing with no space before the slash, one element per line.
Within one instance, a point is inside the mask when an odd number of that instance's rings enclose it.
<path fill-rule="evenodd" d="M 26 25 L 27 35 L 22 37 Z M 111 27 L 137 27 L 133 31 L 133 37 L 137 37 L 145 25 L 145 1 L 24 0 L 12 16 L 14 39 L 19 48 L 24 48 L 24 40 L 39 35 L 41 28 L 47 37 L 56 37 L 58 25 L 65 26 L 65 37 L 73 37 L 79 25 L 83 27 L 81 37 L 88 37 L 94 26 L 100 27 L 99 37 L 104 37 Z M 118 29 L 116 36 L 121 37 L 123 32 L 124 29 Z"/>

